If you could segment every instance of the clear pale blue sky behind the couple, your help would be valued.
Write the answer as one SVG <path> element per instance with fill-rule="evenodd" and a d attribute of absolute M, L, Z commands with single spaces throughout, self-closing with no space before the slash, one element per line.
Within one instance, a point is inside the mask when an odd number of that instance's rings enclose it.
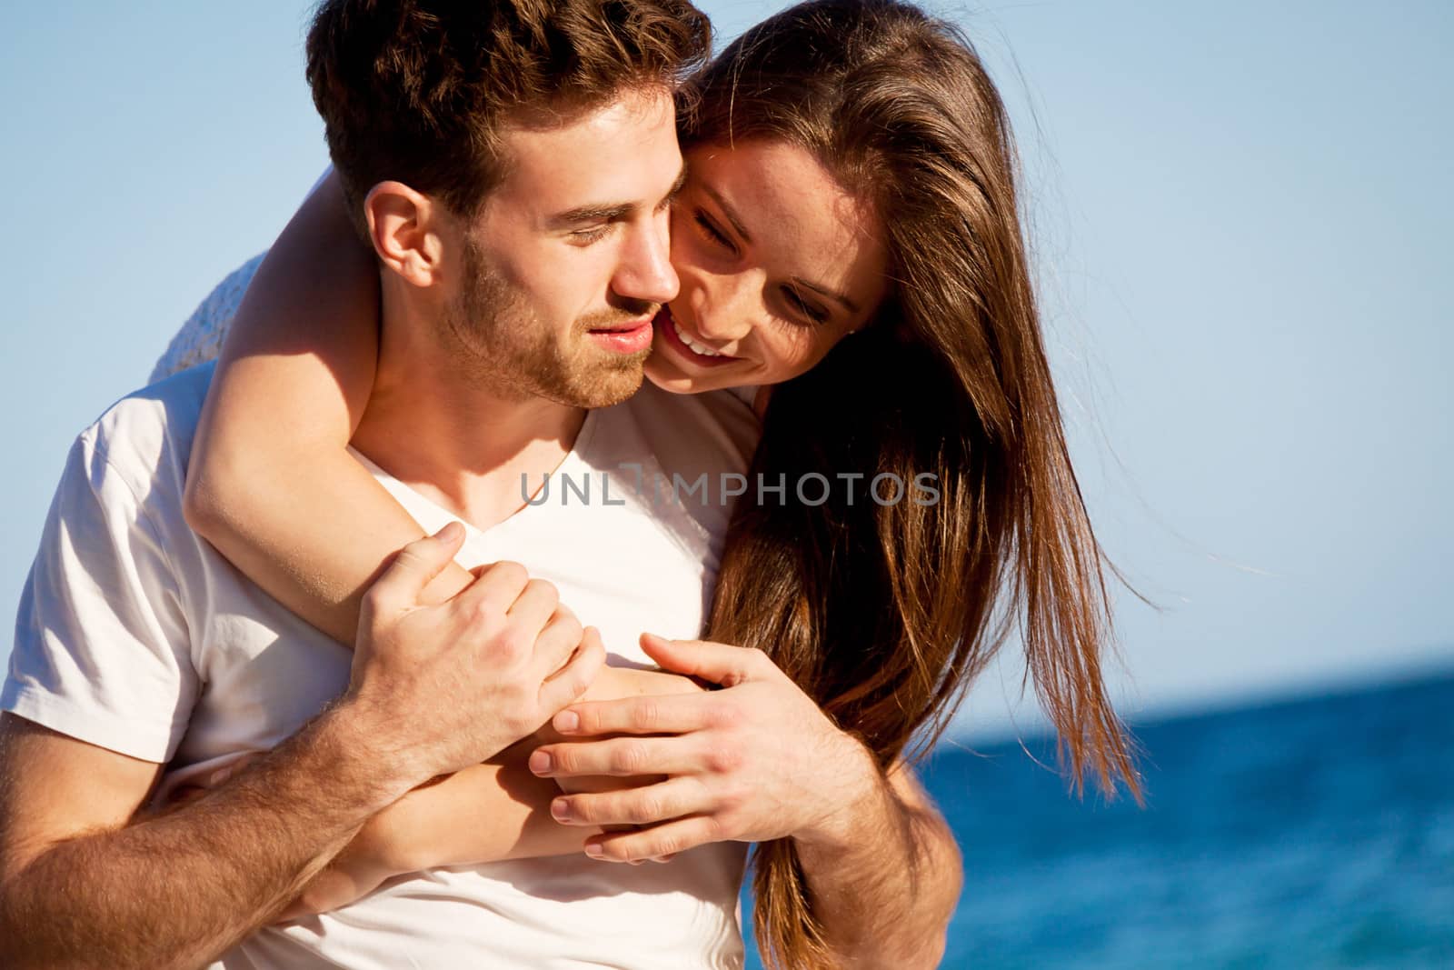
<path fill-rule="evenodd" d="M 704 4 L 723 38 L 779 6 Z M 1127 713 L 1454 665 L 1454 7 L 932 9 L 1011 103 L 1086 499 L 1163 606 L 1118 593 Z M 7 17 L 7 618 L 71 438 L 326 163 L 307 15 Z M 989 672 L 976 730 L 1016 691 Z"/>

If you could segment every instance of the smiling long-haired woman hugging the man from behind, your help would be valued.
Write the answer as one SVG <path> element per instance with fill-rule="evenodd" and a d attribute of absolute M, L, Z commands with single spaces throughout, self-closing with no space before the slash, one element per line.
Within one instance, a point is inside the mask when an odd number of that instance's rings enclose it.
<path fill-rule="evenodd" d="M 1077 787 L 1090 774 L 1138 795 L 1102 684 L 1102 554 L 1045 364 L 1005 111 L 968 44 L 907 4 L 820 0 L 749 31 L 691 93 L 672 223 L 682 289 L 648 378 L 762 387 L 753 473 L 929 473 L 938 489 L 933 505 L 867 502 L 862 486 L 856 502 L 836 486 L 823 505 L 746 496 L 708 637 L 765 650 L 887 768 L 928 752 L 1018 618 Z M 377 284 L 323 195 L 249 292 L 189 499 L 244 572 L 348 641 L 356 590 L 422 529 L 345 451 L 372 377 Z M 278 435 L 289 414 L 308 426 Z M 254 471 L 275 467 L 294 474 L 269 494 Z M 467 855 L 409 858 L 486 861 Z M 756 859 L 765 958 L 823 964 L 791 841 Z"/>

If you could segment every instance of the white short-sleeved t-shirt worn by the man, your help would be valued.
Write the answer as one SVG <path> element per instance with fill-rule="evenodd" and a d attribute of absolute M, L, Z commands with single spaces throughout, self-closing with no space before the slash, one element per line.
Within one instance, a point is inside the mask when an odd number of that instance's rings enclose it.
<path fill-rule="evenodd" d="M 348 686 L 352 660 L 182 518 L 211 369 L 122 398 L 76 441 L 0 692 L 0 707 L 57 731 L 170 762 L 174 782 L 292 734 Z M 612 663 L 648 665 L 643 630 L 699 634 L 730 512 L 720 493 L 672 502 L 660 487 L 654 499 L 653 483 L 740 473 L 756 432 L 734 396 L 648 385 L 592 412 L 544 503 L 487 532 L 468 528 L 458 558 L 525 563 L 601 627 Z M 374 471 L 425 529 L 454 518 Z M 579 854 L 430 870 L 334 913 L 266 928 L 215 966 L 740 967 L 744 858 L 744 845 L 720 842 L 667 864 Z"/>

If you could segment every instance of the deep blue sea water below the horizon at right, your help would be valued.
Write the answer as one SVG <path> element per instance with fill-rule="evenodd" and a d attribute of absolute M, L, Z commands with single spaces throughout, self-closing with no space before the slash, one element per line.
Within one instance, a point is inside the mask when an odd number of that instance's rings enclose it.
<path fill-rule="evenodd" d="M 1454 967 L 1454 675 L 1134 731 L 1144 809 L 1018 743 L 925 763 L 965 861 L 944 967 Z"/>

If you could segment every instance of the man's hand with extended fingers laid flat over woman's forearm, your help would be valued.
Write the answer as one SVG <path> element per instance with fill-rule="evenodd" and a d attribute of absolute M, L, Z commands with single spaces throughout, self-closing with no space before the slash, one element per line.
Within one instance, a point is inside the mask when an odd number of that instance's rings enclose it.
<path fill-rule="evenodd" d="M 667 775 L 627 791 L 557 798 L 564 825 L 634 825 L 589 839 L 593 858 L 638 862 L 708 842 L 797 836 L 830 841 L 859 800 L 878 791 L 868 749 L 838 730 L 760 650 L 698 640 L 641 637 L 666 670 L 724 689 L 583 701 L 555 716 L 564 737 L 531 756 L 531 771 L 577 775 Z M 599 739 L 602 734 L 625 737 Z"/>

